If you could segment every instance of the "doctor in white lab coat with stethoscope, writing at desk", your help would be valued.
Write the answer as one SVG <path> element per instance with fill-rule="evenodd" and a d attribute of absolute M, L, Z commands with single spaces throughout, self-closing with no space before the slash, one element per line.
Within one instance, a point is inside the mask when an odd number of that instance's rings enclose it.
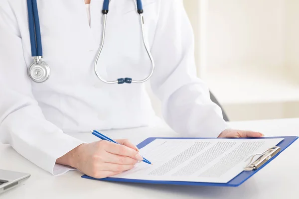
<path fill-rule="evenodd" d="M 53 175 L 130 170 L 142 157 L 128 140 L 66 133 L 151 124 L 146 81 L 176 132 L 262 136 L 229 129 L 196 77 L 193 43 L 182 0 L 0 0 L 0 141 Z"/>

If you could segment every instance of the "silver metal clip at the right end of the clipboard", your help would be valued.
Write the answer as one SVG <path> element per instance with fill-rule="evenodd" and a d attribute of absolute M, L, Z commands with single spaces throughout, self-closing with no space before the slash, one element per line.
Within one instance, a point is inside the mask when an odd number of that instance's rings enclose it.
<path fill-rule="evenodd" d="M 270 149 L 267 149 L 263 153 L 258 153 L 258 154 L 250 156 L 249 158 L 251 158 L 251 160 L 250 160 L 249 164 L 244 168 L 244 171 L 253 171 L 255 169 L 260 168 L 262 165 L 264 165 L 267 161 L 269 161 L 272 157 L 274 157 L 280 151 L 281 151 L 281 148 L 279 146 L 275 146 Z M 254 157 L 257 155 L 260 155 L 260 157 L 256 161 L 252 162 Z"/>

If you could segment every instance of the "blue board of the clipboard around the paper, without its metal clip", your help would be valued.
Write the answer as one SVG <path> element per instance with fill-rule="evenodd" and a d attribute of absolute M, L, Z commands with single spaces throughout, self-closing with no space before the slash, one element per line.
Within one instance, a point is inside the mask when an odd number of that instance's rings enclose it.
<path fill-rule="evenodd" d="M 181 182 L 181 181 L 151 181 L 151 180 L 132 180 L 132 179 L 124 179 L 124 178 L 104 178 L 104 179 L 95 179 L 86 175 L 83 175 L 82 178 L 91 179 L 91 180 L 99 180 L 99 181 L 108 181 L 108 182 L 122 182 L 122 183 L 143 183 L 143 184 L 163 184 L 163 185 L 187 185 L 187 186 L 218 186 L 218 187 L 238 187 L 247 181 L 250 177 L 264 168 L 267 164 L 269 164 L 272 160 L 274 160 L 280 153 L 282 153 L 285 149 L 287 149 L 291 144 L 293 144 L 298 136 L 287 136 L 287 137 L 263 137 L 263 138 L 237 138 L 237 139 L 273 139 L 273 138 L 284 138 L 277 146 L 281 148 L 281 150 L 273 156 L 270 160 L 268 160 L 265 164 L 253 171 L 243 171 L 238 176 L 233 178 L 228 183 L 198 183 L 198 182 Z M 138 144 L 137 147 L 139 149 L 145 147 L 150 142 L 155 139 L 211 139 L 211 138 L 169 138 L 169 137 L 150 137 L 144 140 L 142 143 Z M 212 138 L 219 139 L 219 138 Z M 220 138 L 226 139 L 226 138 Z M 227 138 L 232 139 L 232 138 Z M 234 139 L 234 138 L 233 138 Z"/>

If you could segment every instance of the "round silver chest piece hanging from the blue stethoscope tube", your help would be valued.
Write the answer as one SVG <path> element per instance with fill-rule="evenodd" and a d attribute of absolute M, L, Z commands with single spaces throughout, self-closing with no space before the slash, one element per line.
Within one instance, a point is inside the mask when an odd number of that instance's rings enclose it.
<path fill-rule="evenodd" d="M 34 59 L 34 62 L 28 69 L 28 75 L 32 81 L 37 83 L 45 82 L 51 74 L 50 67 L 43 62 L 40 57 Z"/>

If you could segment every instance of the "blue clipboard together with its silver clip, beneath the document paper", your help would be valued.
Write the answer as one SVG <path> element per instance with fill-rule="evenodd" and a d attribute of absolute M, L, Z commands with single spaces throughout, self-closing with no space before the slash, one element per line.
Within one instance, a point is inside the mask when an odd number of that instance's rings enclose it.
<path fill-rule="evenodd" d="M 286 150 L 290 145 L 292 145 L 299 137 L 298 136 L 286 136 L 286 137 L 262 137 L 262 138 L 169 138 L 169 137 L 149 137 L 140 144 L 137 145 L 139 149 L 145 147 L 150 142 L 155 139 L 274 139 L 274 138 L 283 138 L 277 146 L 274 146 L 267 151 L 256 154 L 259 155 L 258 159 L 250 163 L 245 167 L 244 171 L 233 178 L 228 183 L 199 183 L 199 182 L 181 182 L 181 181 L 152 181 L 152 180 L 136 180 L 136 179 L 124 179 L 124 178 L 104 178 L 104 179 L 95 179 L 86 175 L 83 175 L 82 178 L 99 180 L 99 181 L 108 181 L 108 182 L 122 182 L 122 183 L 143 183 L 143 184 L 161 184 L 161 185 L 184 185 L 184 186 L 214 186 L 214 187 L 239 187 L 249 178 L 255 175 L 258 171 L 264 168 L 272 160 L 274 160 L 279 154 Z M 254 156 L 256 156 L 254 155 Z M 253 159 L 253 157 L 252 157 Z"/>

